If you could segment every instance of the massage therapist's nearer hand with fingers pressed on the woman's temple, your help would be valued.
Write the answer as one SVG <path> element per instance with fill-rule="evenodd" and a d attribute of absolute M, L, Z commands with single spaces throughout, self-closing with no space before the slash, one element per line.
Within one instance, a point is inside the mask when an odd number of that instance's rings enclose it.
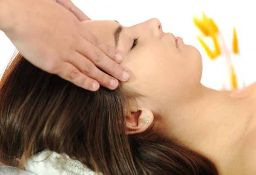
<path fill-rule="evenodd" d="M 0 0 L 0 30 L 30 63 L 81 88 L 96 91 L 100 84 L 113 90 L 117 79 L 127 81 L 120 52 L 81 24 L 74 14 L 86 17 L 75 6 L 54 1 Z"/>

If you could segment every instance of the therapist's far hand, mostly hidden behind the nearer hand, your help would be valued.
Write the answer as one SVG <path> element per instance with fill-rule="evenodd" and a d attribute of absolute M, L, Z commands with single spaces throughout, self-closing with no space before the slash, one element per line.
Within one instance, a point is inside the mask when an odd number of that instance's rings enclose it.
<path fill-rule="evenodd" d="M 77 8 L 71 0 L 52 0 L 54 2 L 57 2 L 58 4 L 61 4 L 63 7 L 74 13 L 74 15 L 80 20 L 80 21 L 85 21 L 85 20 L 90 20 L 88 16 L 83 13 L 79 8 Z"/>

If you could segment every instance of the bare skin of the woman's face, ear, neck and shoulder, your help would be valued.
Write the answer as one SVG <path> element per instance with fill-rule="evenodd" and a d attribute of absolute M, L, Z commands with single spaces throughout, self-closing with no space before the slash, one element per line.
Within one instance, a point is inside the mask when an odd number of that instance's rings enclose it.
<path fill-rule="evenodd" d="M 120 24 L 85 21 L 83 25 L 115 47 L 113 33 Z M 136 37 L 137 46 L 131 50 Z M 155 123 L 159 132 L 211 159 L 220 174 L 254 174 L 255 84 L 239 92 L 205 87 L 200 83 L 198 50 L 183 42 L 177 48 L 173 34 L 164 33 L 157 19 L 124 27 L 117 49 L 124 55 L 121 65 L 131 73 L 124 87 L 143 95 L 137 99 L 140 109 L 129 109 L 127 134 L 143 132 Z"/>

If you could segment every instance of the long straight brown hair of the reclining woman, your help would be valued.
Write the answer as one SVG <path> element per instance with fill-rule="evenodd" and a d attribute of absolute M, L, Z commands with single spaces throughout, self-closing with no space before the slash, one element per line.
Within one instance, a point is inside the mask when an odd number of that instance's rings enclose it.
<path fill-rule="evenodd" d="M 149 128 L 125 134 L 125 108 L 136 93 L 90 92 L 49 74 L 18 54 L 0 81 L 0 157 L 49 149 L 104 175 L 217 175 L 206 157 Z"/>

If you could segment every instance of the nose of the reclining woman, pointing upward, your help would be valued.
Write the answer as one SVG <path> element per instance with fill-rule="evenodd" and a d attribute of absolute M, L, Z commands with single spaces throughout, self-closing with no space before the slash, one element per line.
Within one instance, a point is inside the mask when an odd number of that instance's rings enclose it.
<path fill-rule="evenodd" d="M 145 23 L 147 23 L 147 27 L 152 36 L 155 36 L 156 38 L 162 37 L 164 32 L 162 30 L 161 22 L 157 18 L 147 20 Z"/>

